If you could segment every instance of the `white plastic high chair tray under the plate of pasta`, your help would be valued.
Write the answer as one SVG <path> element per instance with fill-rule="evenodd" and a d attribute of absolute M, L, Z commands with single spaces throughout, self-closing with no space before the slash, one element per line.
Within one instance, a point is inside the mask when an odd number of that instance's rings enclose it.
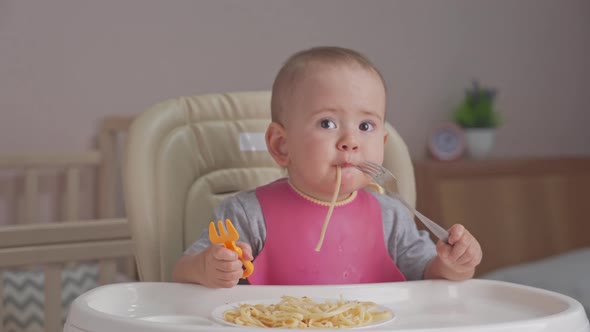
<path fill-rule="evenodd" d="M 391 309 L 395 319 L 366 328 L 374 331 L 590 332 L 582 305 L 568 296 L 479 279 L 342 286 L 244 285 L 232 289 L 176 283 L 112 284 L 78 297 L 64 331 L 256 331 L 260 329 L 217 323 L 212 314 L 229 303 L 278 302 L 283 295 L 342 296 Z"/>

